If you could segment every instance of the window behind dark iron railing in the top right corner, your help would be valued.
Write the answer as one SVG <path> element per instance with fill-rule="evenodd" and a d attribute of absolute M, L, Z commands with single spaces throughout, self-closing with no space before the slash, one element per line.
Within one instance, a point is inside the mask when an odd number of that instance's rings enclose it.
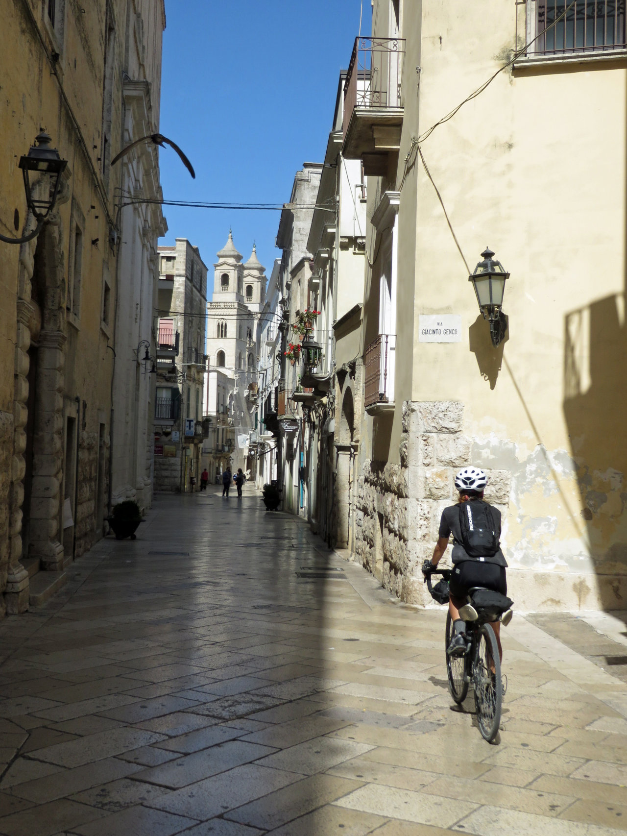
<path fill-rule="evenodd" d="M 538 0 L 537 51 L 568 54 L 625 46 L 624 0 Z M 558 18 L 560 18 L 558 20 Z M 558 20 L 558 23 L 554 23 Z M 552 25 L 554 23 L 554 25 Z"/>

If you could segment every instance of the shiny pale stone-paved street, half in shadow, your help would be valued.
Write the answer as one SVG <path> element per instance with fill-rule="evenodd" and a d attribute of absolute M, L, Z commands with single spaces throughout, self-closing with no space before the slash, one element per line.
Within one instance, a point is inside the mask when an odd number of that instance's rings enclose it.
<path fill-rule="evenodd" d="M 446 690 L 444 609 L 212 491 L 157 497 L 0 625 L 0 833 L 627 830 L 624 681 L 516 615 L 489 746 Z"/>

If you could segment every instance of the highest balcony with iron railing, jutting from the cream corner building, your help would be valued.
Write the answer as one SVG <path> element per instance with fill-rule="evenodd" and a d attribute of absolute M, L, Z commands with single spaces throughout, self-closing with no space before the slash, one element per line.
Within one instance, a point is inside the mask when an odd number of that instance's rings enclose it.
<path fill-rule="evenodd" d="M 387 174 L 388 154 L 400 148 L 404 58 L 402 38 L 355 38 L 344 82 L 342 150 L 361 160 L 368 176 Z"/>

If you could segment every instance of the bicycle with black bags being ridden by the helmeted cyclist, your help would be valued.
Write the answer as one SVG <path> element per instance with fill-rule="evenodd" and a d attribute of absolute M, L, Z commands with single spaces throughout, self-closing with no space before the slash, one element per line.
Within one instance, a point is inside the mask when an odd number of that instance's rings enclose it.
<path fill-rule="evenodd" d="M 442 576 L 441 582 L 434 587 L 431 577 Z M 427 589 L 431 598 L 439 604 L 448 604 L 448 582 L 451 569 L 436 569 L 425 575 Z M 445 589 L 446 588 L 446 589 Z M 468 687 L 472 682 L 477 708 L 477 722 L 484 740 L 492 743 L 501 726 L 502 680 L 501 660 L 498 654 L 497 636 L 492 628 L 492 621 L 500 620 L 507 625 L 512 620 L 512 601 L 506 595 L 472 587 L 468 590 L 468 602 L 459 610 L 460 618 L 466 623 L 468 644 L 462 656 L 450 656 L 446 653 L 446 676 L 451 696 L 457 705 L 466 699 Z M 445 649 L 451 641 L 453 629 L 451 613 L 446 614 Z M 494 670 L 492 670 L 492 668 Z"/>

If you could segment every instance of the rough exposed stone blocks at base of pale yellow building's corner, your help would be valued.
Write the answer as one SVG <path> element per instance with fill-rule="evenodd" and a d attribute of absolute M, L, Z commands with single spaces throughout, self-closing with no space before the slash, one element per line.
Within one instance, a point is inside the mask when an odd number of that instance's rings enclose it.
<path fill-rule="evenodd" d="M 459 401 L 403 404 L 400 465 L 366 461 L 357 480 L 355 554 L 391 593 L 410 604 L 432 604 L 421 565 L 431 558 L 443 508 L 456 501 L 456 472 L 472 463 L 472 441 L 463 435 Z M 507 510 L 508 471 L 488 470 L 488 502 Z M 377 566 L 377 531 L 383 531 Z"/>

